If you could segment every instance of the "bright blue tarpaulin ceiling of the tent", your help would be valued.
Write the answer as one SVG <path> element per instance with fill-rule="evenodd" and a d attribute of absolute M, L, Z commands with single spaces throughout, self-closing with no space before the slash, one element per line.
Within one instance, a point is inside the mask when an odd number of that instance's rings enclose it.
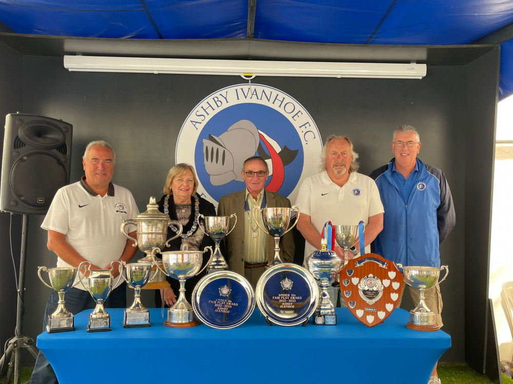
<path fill-rule="evenodd" d="M 47 36 L 364 45 L 468 45 L 506 31 L 492 42 L 499 97 L 513 92 L 513 0 L 0 0 L 0 22 Z"/>

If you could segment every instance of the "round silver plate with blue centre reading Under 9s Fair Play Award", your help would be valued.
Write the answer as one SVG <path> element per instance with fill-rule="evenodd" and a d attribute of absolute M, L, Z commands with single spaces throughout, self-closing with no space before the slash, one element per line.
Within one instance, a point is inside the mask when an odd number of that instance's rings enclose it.
<path fill-rule="evenodd" d="M 192 308 L 206 325 L 217 329 L 243 324 L 255 308 L 251 283 L 232 271 L 216 271 L 204 276 L 192 291 Z"/>

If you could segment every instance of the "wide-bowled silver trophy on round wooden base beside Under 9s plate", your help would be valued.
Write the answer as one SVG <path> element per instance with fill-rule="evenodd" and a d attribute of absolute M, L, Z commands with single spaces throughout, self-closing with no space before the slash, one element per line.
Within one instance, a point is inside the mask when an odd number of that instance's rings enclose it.
<path fill-rule="evenodd" d="M 176 303 L 168 309 L 167 320 L 164 322 L 166 327 L 185 328 L 200 324 L 200 321 L 194 314 L 192 306 L 185 298 L 185 281 L 205 270 L 208 263 L 205 267 L 201 268 L 203 253 L 205 253 L 207 249 L 210 250 L 210 262 L 212 260 L 213 251 L 210 246 L 205 247 L 203 251 L 189 251 L 187 248 L 187 244 L 183 244 L 182 250 L 180 251 L 162 252 L 162 264 L 164 269 L 157 266 L 161 268 L 167 276 L 177 279 L 180 282 L 180 296 Z M 155 252 L 156 249 L 154 249 L 154 253 Z"/>

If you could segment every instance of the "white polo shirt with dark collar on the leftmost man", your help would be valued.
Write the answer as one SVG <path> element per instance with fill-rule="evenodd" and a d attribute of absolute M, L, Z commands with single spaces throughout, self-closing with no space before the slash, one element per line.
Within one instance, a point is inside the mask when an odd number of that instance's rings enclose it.
<path fill-rule="evenodd" d="M 84 259 L 104 268 L 121 257 L 128 240 L 121 233 L 121 224 L 139 215 L 139 210 L 128 189 L 110 183 L 107 194 L 101 197 L 83 180 L 57 191 L 41 228 L 65 234 L 66 241 Z M 136 228 L 130 225 L 126 230 L 129 233 Z M 57 257 L 57 267 L 69 266 Z M 85 290 L 82 284 L 76 288 Z"/>

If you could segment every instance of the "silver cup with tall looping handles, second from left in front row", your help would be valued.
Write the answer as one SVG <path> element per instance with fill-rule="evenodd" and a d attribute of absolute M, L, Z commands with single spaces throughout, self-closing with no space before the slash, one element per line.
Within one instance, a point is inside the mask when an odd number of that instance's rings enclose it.
<path fill-rule="evenodd" d="M 78 270 L 80 271 L 82 271 L 83 267 L 87 266 L 86 273 L 89 272 L 89 276 L 87 277 L 87 284 L 84 284 L 82 275 L 80 273 L 78 274 L 78 277 L 80 278 L 82 285 L 89 291 L 91 297 L 96 303 L 96 307 L 89 315 L 87 332 L 101 332 L 111 330 L 110 315 L 107 313 L 103 305 L 109 297 L 112 288 L 116 286 L 122 278 L 122 274 L 120 274 L 117 276 L 116 282 L 114 283 L 114 277 L 112 276 L 114 263 L 119 263 L 120 266 L 123 266 L 123 263 L 119 260 L 114 260 L 112 263 L 110 263 L 110 269 L 91 270 L 91 263 L 88 261 L 83 261 L 78 265 Z"/>

